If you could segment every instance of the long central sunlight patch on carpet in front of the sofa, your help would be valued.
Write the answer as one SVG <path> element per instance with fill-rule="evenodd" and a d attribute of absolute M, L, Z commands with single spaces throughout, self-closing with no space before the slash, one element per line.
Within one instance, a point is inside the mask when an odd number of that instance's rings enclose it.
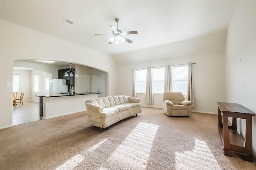
<path fill-rule="evenodd" d="M 157 129 L 158 125 L 140 122 L 107 161 L 130 169 L 145 169 Z"/>

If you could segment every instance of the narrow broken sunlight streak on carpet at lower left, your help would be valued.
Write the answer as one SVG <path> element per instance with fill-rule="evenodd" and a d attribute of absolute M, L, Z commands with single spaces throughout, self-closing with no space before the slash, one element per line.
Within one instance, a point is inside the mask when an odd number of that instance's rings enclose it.
<path fill-rule="evenodd" d="M 86 152 L 93 152 L 95 149 L 97 149 L 102 143 L 104 143 L 108 138 L 104 139 L 103 141 L 97 143 L 96 145 L 93 145 L 92 147 L 88 148 Z M 80 162 L 84 160 L 84 156 L 81 154 L 77 154 L 76 156 L 72 157 L 68 161 L 66 161 L 64 164 L 56 168 L 55 170 L 72 170 L 74 169 Z"/>

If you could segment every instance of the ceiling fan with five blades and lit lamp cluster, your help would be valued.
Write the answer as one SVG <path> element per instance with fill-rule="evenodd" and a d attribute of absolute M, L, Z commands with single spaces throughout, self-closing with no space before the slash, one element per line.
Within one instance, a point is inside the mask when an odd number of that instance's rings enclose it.
<path fill-rule="evenodd" d="M 118 21 L 119 19 L 116 18 L 116 27 L 115 25 L 109 25 L 112 28 L 112 34 L 95 34 L 95 35 L 113 35 L 113 37 L 110 38 L 109 44 L 112 44 L 116 40 L 116 44 L 119 44 L 120 41 L 123 43 L 124 41 L 128 43 L 132 43 L 132 40 L 124 37 L 124 35 L 129 34 L 137 34 L 137 31 L 128 31 L 128 32 L 122 32 L 120 29 L 118 29 Z"/>

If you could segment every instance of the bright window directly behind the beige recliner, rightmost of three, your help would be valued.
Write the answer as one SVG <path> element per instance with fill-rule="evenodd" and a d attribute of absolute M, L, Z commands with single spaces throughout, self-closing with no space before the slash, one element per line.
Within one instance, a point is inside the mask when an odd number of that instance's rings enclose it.
<path fill-rule="evenodd" d="M 172 66 L 172 91 L 188 93 L 188 64 Z"/>

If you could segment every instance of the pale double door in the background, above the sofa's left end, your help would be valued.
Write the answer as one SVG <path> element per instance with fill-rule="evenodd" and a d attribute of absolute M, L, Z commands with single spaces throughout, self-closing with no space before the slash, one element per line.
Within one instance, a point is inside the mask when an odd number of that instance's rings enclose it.
<path fill-rule="evenodd" d="M 106 75 L 92 76 L 92 92 L 102 92 L 99 97 L 106 96 Z"/>

